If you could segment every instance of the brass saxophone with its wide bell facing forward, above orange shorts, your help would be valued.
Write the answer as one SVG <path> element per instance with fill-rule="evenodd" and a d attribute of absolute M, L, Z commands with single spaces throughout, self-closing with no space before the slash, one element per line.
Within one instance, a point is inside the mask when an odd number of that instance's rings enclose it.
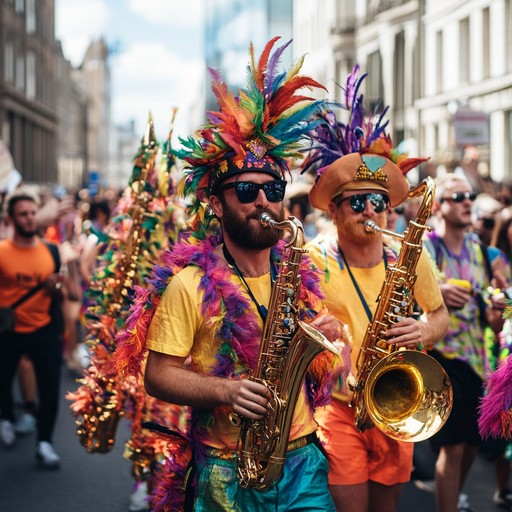
<path fill-rule="evenodd" d="M 446 422 L 453 405 L 450 379 L 432 357 L 416 350 L 396 350 L 384 337 L 386 330 L 402 318 L 411 316 L 423 233 L 432 210 L 435 182 L 425 179 L 409 192 L 409 197 L 423 195 L 416 219 L 409 222 L 403 235 L 379 228 L 372 220 L 365 228 L 402 238 L 394 265 L 378 297 L 377 310 L 368 325 L 356 368 L 354 392 L 350 405 L 355 408 L 359 431 L 377 426 L 384 434 L 399 441 L 423 441 L 434 435 Z"/>

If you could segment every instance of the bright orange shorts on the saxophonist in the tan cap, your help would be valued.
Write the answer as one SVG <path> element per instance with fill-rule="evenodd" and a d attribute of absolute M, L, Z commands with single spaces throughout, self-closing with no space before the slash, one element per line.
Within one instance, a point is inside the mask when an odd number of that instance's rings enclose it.
<path fill-rule="evenodd" d="M 369 480 L 394 485 L 410 480 L 414 443 L 395 441 L 377 427 L 358 432 L 354 410 L 335 399 L 317 409 L 315 419 L 329 459 L 329 485 L 355 485 Z"/>

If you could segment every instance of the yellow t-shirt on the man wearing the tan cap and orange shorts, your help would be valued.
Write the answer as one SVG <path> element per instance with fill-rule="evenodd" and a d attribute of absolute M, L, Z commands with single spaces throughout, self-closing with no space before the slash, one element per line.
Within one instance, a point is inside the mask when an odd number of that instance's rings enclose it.
<path fill-rule="evenodd" d="M 348 329 L 352 352 L 350 354 L 352 373 L 356 372 L 359 350 L 368 329 L 368 316 L 346 267 L 343 270 L 338 262 L 337 242 L 329 238 L 308 245 L 309 256 L 313 263 L 326 274 L 320 280 L 325 294 L 324 304 L 329 312 L 343 322 Z M 384 283 L 386 268 L 381 261 L 373 268 L 350 267 L 363 297 L 372 312 L 377 309 L 377 298 Z M 435 311 L 443 304 L 443 297 L 437 284 L 432 260 L 423 250 L 416 266 L 417 279 L 414 286 L 414 298 L 426 313 Z M 333 395 L 346 400 L 347 396 L 339 390 Z"/>

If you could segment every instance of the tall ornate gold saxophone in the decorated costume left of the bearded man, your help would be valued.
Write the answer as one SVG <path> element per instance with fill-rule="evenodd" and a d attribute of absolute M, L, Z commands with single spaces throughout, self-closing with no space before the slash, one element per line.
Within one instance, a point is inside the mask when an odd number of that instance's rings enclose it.
<path fill-rule="evenodd" d="M 75 411 L 76 434 L 80 444 L 89 453 L 107 453 L 114 447 L 115 436 L 119 420 L 124 415 L 123 403 L 125 393 L 123 381 L 118 375 L 112 374 L 107 369 L 108 361 L 114 352 L 115 335 L 118 331 L 118 323 L 128 314 L 129 291 L 137 280 L 137 264 L 141 259 L 141 243 L 143 237 L 143 223 L 153 214 L 148 211 L 151 200 L 150 194 L 145 190 L 146 181 L 153 172 L 157 155 L 157 142 L 153 129 L 153 119 L 150 115 L 144 136 L 141 141 L 144 148 L 142 155 L 136 162 L 140 166 L 140 174 L 130 184 L 133 205 L 130 208 L 132 224 L 124 245 L 117 248 L 121 257 L 117 264 L 118 275 L 104 279 L 101 286 L 108 291 L 108 302 L 91 306 L 89 313 L 98 319 L 103 318 L 103 323 L 108 329 L 98 328 L 97 322 L 92 324 L 91 333 L 94 335 L 94 357 L 91 367 L 80 379 L 81 386 L 78 393 L 70 393 L 68 398 L 75 400 L 71 408 Z M 109 248 L 116 249 L 115 240 L 110 241 Z M 87 397 L 87 406 L 81 408 L 82 396 Z"/>

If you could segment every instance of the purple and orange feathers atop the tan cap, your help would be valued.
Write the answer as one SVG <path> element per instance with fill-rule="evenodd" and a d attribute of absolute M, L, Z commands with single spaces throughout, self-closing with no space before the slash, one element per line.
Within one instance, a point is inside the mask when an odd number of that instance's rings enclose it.
<path fill-rule="evenodd" d="M 404 174 L 416 167 L 425 158 L 408 158 L 393 147 L 386 128 L 389 121 L 385 116 L 389 107 L 368 113 L 364 108 L 364 96 L 360 92 L 367 73 L 359 74 L 355 65 L 348 75 L 342 108 L 348 112 L 346 123 L 338 121 L 333 110 L 324 109 L 319 115 L 323 122 L 318 123 L 312 133 L 313 147 L 302 165 L 302 172 L 314 170 L 321 175 L 323 170 L 338 158 L 350 153 L 373 153 L 385 156 L 394 162 Z"/>

